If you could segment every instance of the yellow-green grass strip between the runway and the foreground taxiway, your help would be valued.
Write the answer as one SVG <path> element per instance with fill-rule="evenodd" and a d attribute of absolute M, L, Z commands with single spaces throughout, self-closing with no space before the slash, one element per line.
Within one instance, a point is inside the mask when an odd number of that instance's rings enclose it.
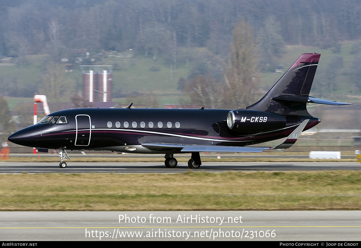
<path fill-rule="evenodd" d="M 0 210 L 361 210 L 360 171 L 2 174 Z"/>

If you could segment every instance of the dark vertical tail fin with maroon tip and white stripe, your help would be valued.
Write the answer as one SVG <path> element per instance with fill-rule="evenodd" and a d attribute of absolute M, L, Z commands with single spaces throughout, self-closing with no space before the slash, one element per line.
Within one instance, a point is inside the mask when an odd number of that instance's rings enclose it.
<path fill-rule="evenodd" d="M 299 99 L 308 99 L 320 56 L 316 53 L 301 55 L 268 93 L 247 109 L 310 116 L 306 109 L 307 101 Z"/>

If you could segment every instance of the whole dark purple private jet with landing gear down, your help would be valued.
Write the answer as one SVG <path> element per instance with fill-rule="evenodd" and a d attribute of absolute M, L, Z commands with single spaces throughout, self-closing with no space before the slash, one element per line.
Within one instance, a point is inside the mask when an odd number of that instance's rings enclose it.
<path fill-rule="evenodd" d="M 246 109 L 77 108 L 45 116 L 8 140 L 47 152 L 56 149 L 65 168 L 66 150 L 109 150 L 165 154 L 174 168 L 176 153 L 191 153 L 188 167 L 201 166 L 200 152 L 261 152 L 291 147 L 301 132 L 321 120 L 307 103 L 347 105 L 310 97 L 320 54 L 303 54 L 258 102 Z M 249 146 L 285 138 L 275 147 Z M 59 151 L 58 151 L 59 150 Z"/>

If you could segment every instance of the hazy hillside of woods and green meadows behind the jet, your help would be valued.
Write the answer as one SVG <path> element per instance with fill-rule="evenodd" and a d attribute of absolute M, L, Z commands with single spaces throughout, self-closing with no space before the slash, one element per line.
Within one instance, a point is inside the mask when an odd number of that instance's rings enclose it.
<path fill-rule="evenodd" d="M 242 87 L 254 87 L 247 94 L 262 91 L 279 76 L 272 74 L 275 65 L 289 66 L 285 59 L 292 63 L 299 56 L 290 46 L 326 52 L 329 60 L 320 63 L 325 69 L 313 89 L 316 94 L 360 94 L 361 4 L 356 0 L 0 2 L 1 64 L 14 65 L 0 67 L 0 94 L 7 97 L 50 94 L 44 91 L 53 77 L 63 84 L 54 100 L 70 99 L 82 89 L 78 65 L 108 64 L 114 65 L 113 98 L 166 89 L 176 102 L 177 94 L 183 94 L 182 103 L 233 106 L 239 103 L 214 96 L 234 95 L 224 86 L 241 87 L 235 75 L 245 71 L 252 84 L 242 82 Z M 237 42 L 252 47 L 237 47 Z M 252 66 L 234 56 L 237 49 L 254 57 L 247 62 Z M 80 50 L 89 57 L 78 60 Z M 112 59 L 129 51 L 127 63 Z M 74 64 L 73 73 L 55 73 L 65 67 L 62 58 Z M 212 91 L 204 99 L 195 90 L 202 90 L 200 85 Z M 218 92 L 220 86 L 225 92 Z M 244 104 L 253 101 L 244 97 Z"/>

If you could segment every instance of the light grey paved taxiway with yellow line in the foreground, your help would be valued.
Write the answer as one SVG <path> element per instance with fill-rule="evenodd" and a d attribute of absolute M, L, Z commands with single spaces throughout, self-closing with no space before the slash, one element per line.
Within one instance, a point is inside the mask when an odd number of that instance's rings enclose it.
<path fill-rule="evenodd" d="M 361 240 L 361 211 L 7 211 L 0 219 L 3 241 Z"/>

